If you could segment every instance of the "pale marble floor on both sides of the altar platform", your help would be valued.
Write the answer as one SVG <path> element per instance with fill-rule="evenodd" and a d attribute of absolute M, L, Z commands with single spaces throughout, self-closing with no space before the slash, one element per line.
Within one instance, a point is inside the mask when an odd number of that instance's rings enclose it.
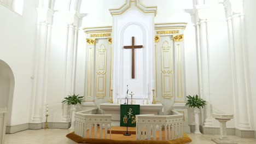
<path fill-rule="evenodd" d="M 68 143 L 68 139 L 65 137 L 66 134 L 71 133 L 73 130 L 67 129 L 40 129 L 40 130 L 25 130 L 15 134 L 5 135 L 4 144 L 55 144 L 55 143 Z M 192 139 L 191 144 L 213 144 L 211 141 L 214 135 L 195 135 L 188 134 Z M 256 139 L 241 139 L 237 136 L 229 136 L 230 139 L 240 144 L 255 144 Z"/>

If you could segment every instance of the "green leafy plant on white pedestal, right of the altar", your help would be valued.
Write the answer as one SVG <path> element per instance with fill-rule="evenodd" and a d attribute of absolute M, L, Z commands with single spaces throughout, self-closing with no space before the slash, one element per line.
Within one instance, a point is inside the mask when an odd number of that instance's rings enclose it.
<path fill-rule="evenodd" d="M 201 134 L 200 130 L 199 130 L 199 113 L 200 113 L 200 107 L 203 108 L 203 106 L 206 105 L 206 101 L 199 98 L 198 95 L 194 95 L 193 97 L 191 97 L 190 95 L 187 96 L 188 101 L 186 103 L 186 105 L 188 105 L 189 107 L 193 107 L 194 108 L 194 113 L 195 113 L 195 134 Z"/>

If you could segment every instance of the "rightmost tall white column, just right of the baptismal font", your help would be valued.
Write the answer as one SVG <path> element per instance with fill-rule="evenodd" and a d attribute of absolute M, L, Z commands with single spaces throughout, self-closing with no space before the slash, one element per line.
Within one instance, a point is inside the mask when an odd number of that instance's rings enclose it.
<path fill-rule="evenodd" d="M 245 37 L 243 28 L 243 15 L 234 15 L 231 18 L 232 21 L 232 32 L 233 32 L 233 43 L 234 43 L 234 56 L 235 56 L 235 70 L 236 70 L 236 86 L 237 86 L 237 103 L 238 103 L 238 116 L 239 122 L 238 127 L 243 129 L 249 129 L 249 118 L 247 109 L 247 91 L 246 88 L 246 66 L 245 66 Z"/>

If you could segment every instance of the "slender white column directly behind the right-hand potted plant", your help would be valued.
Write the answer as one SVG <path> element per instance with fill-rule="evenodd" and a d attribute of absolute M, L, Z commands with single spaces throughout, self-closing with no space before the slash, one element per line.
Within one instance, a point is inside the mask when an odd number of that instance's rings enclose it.
<path fill-rule="evenodd" d="M 209 79 L 209 63 L 208 63 L 208 37 L 207 37 L 207 22 L 206 20 L 200 21 L 200 50 L 201 50 L 201 97 L 208 103 L 205 106 L 205 127 L 212 125 L 211 117 L 211 101 L 210 101 L 210 79 Z"/>

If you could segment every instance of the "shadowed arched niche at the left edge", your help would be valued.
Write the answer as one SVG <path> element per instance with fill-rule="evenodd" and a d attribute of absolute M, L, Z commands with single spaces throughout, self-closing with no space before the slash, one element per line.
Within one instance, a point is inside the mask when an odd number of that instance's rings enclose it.
<path fill-rule="evenodd" d="M 13 105 L 14 75 L 7 63 L 0 59 L 0 108 L 7 108 L 7 125 L 10 125 Z"/>

